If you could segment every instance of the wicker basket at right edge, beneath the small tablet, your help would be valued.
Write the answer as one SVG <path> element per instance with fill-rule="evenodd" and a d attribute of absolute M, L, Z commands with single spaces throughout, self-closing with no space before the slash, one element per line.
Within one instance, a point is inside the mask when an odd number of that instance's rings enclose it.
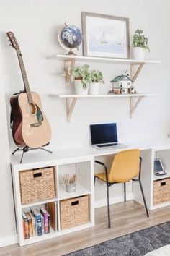
<path fill-rule="evenodd" d="M 170 201 L 170 178 L 159 179 L 153 183 L 153 205 Z"/>

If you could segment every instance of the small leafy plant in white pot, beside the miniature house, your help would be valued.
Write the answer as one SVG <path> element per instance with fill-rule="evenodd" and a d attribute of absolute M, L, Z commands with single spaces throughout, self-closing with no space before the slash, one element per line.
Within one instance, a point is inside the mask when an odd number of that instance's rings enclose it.
<path fill-rule="evenodd" d="M 91 70 L 91 84 L 89 86 L 89 94 L 95 95 L 99 93 L 99 84 L 104 83 L 102 72 L 99 70 Z"/>

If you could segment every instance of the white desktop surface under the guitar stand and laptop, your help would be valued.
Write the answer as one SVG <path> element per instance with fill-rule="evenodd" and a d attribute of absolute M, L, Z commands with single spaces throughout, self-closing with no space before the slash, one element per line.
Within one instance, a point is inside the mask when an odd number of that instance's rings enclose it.
<path fill-rule="evenodd" d="M 125 144 L 128 145 L 128 148 L 117 148 L 114 150 L 97 150 L 91 146 L 56 150 L 53 151 L 53 154 L 45 152 L 44 150 L 35 150 L 34 152 L 30 151 L 24 154 L 22 164 L 19 163 L 22 155 L 21 152 L 19 152 L 11 156 L 11 163 L 13 166 L 20 165 L 22 168 L 27 168 L 27 165 L 30 165 L 31 163 L 48 163 L 51 161 L 61 161 L 62 163 L 66 160 L 71 161 L 74 158 L 90 158 L 100 155 L 112 155 L 119 151 L 133 148 L 139 148 L 140 150 L 166 150 L 170 149 L 170 138 L 125 142 Z"/>

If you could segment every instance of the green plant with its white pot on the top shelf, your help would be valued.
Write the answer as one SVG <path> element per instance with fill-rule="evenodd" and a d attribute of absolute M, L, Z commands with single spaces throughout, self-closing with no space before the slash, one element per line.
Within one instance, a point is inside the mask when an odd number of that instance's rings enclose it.
<path fill-rule="evenodd" d="M 145 59 L 146 50 L 150 51 L 148 48 L 148 38 L 143 35 L 143 30 L 135 30 L 135 35 L 133 35 L 133 57 L 143 61 Z"/>

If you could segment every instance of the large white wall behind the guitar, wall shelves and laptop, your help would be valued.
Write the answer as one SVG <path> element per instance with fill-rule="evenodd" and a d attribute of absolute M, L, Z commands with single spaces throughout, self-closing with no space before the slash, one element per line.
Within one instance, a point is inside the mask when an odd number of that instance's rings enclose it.
<path fill-rule="evenodd" d="M 40 93 L 45 114 L 52 127 L 50 148 L 89 145 L 89 124 L 101 122 L 116 121 L 120 140 L 166 137 L 170 125 L 169 7 L 169 0 L 164 0 L 164 4 L 158 0 L 0 0 L 0 61 L 3 66 L 1 87 L 4 86 L 5 90 L 8 127 L 9 98 L 12 93 L 23 88 L 17 56 L 13 48 L 9 47 L 5 35 L 6 31 L 12 30 L 22 49 L 30 87 Z M 77 102 L 72 121 L 67 123 L 65 101 L 48 96 L 49 93 L 64 93 L 66 89 L 63 77 L 57 74 L 63 70 L 63 62 L 47 60 L 46 57 L 65 52 L 56 39 L 58 27 L 63 25 L 63 22 L 81 27 L 81 11 L 129 17 L 130 38 L 135 29 L 142 28 L 149 38 L 151 48 L 148 59 L 162 61 L 158 65 L 146 65 L 138 77 L 135 83 L 138 92 L 160 93 L 160 97 L 144 99 L 133 119 L 129 119 L 128 99 L 84 99 Z M 81 50 L 78 54 L 81 55 Z M 109 81 L 128 67 L 116 64 L 90 65 L 91 68 L 101 69 L 104 74 L 105 85 L 102 86 L 101 92 L 107 92 L 110 88 Z M 1 238 L 15 234 L 15 229 L 4 94 L 1 93 L 0 97 L 1 115 L 4 120 L 1 122 L 1 129 L 5 134 L 4 136 L 1 132 L 1 143 L 6 145 L 6 157 L 1 159 L 1 191 L 6 191 L 3 197 L 0 196 L 0 205 L 5 205 L 6 209 L 6 217 L 0 218 Z M 9 145 L 10 151 L 15 148 L 10 129 Z M 4 148 L 0 150 L 2 155 Z"/>

